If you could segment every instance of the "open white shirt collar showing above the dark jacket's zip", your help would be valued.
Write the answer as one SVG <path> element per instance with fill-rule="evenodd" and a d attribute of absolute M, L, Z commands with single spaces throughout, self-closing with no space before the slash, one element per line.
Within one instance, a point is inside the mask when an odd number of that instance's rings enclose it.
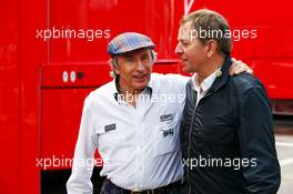
<path fill-rule="evenodd" d="M 212 74 L 210 74 L 208 78 L 205 78 L 201 84 L 199 84 L 198 82 L 198 76 L 199 74 L 198 73 L 194 73 L 192 75 L 192 84 L 193 84 L 193 89 L 196 91 L 198 93 L 198 98 L 196 98 L 196 106 L 200 102 L 200 100 L 206 94 L 206 92 L 209 91 L 209 89 L 212 86 L 214 80 L 216 79 L 216 73 L 221 70 L 218 69 L 215 70 Z"/>

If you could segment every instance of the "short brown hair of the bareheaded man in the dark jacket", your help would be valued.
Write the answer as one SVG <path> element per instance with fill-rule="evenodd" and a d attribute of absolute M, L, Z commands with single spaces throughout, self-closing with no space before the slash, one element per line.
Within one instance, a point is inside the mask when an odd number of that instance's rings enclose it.
<path fill-rule="evenodd" d="M 188 16 L 182 17 L 180 25 L 191 22 L 192 30 L 195 30 L 200 42 L 206 43 L 213 39 L 218 42 L 218 52 L 229 54 L 232 50 L 231 31 L 229 23 L 223 16 L 220 13 L 209 10 L 200 9 L 191 12 Z M 205 31 L 206 35 L 200 35 L 199 33 Z M 225 35 L 225 33 L 230 35 Z"/>

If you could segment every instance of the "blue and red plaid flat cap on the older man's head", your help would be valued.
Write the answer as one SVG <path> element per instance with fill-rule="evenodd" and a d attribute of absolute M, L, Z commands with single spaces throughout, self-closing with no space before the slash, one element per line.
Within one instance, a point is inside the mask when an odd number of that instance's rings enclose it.
<path fill-rule="evenodd" d="M 125 32 L 117 35 L 108 44 L 107 51 L 111 55 L 122 54 L 142 48 L 154 48 L 154 43 L 150 38 L 141 33 Z"/>

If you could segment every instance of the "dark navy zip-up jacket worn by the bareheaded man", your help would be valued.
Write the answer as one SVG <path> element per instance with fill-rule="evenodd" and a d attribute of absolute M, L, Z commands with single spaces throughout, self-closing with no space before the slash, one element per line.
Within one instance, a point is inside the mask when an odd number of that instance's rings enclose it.
<path fill-rule="evenodd" d="M 208 93 L 195 108 L 186 85 L 181 123 L 184 194 L 275 194 L 280 165 L 265 89 L 247 73 L 229 75 L 226 57 Z M 241 163 L 241 165 L 240 165 Z"/>

